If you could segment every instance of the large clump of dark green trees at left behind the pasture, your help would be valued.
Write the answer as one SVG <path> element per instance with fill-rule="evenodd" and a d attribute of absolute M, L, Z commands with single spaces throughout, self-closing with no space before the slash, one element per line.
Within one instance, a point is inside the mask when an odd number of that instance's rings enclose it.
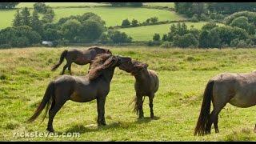
<path fill-rule="evenodd" d="M 38 14 L 42 14 L 39 18 Z M 13 24 L 0 30 L 0 47 L 38 46 L 42 41 L 69 43 L 131 42 L 125 33 L 106 30 L 106 22 L 97 14 L 86 13 L 60 18 L 54 22 L 54 10 L 45 3 L 34 4 L 34 11 L 25 7 L 17 10 Z"/>

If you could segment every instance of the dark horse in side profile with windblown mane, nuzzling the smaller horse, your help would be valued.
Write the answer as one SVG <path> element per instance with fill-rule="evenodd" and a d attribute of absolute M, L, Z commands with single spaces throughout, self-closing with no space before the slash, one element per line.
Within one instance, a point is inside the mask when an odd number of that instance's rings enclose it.
<path fill-rule="evenodd" d="M 98 125 L 106 125 L 105 122 L 105 100 L 110 91 L 110 82 L 116 66 L 123 62 L 129 62 L 129 57 L 114 56 L 111 54 L 98 55 L 91 64 L 91 69 L 86 76 L 62 75 L 50 82 L 42 102 L 39 104 L 34 115 L 28 120 L 33 122 L 45 108 L 46 114 L 49 110 L 49 121 L 46 130 L 54 132 L 53 120 L 58 110 L 66 101 L 90 102 L 97 99 Z M 51 103 L 51 106 L 50 106 Z M 46 114 L 44 118 L 46 118 Z M 43 118 L 43 119 L 44 119 Z M 42 120 L 43 121 L 43 120 Z"/>

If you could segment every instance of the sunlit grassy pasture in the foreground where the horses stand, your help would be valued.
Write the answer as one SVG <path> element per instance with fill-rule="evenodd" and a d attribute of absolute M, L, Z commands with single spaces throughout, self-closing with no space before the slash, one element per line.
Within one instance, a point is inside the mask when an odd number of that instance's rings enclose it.
<path fill-rule="evenodd" d="M 1 141 L 252 141 L 255 106 L 242 109 L 227 106 L 219 116 L 220 133 L 193 135 L 206 82 L 222 72 L 255 70 L 254 49 L 160 49 L 158 47 L 108 47 L 149 64 L 158 73 L 160 87 L 154 98 L 156 119 L 150 120 L 148 98 L 146 118 L 138 120 L 129 102 L 134 97 L 134 78 L 116 68 L 106 98 L 107 126 L 96 126 L 96 102 L 66 102 L 54 118 L 58 133 L 79 132 L 80 138 L 16 138 L 15 132 L 46 132 L 48 118 L 26 120 L 41 102 L 48 82 L 57 78 L 62 66 L 51 72 L 66 48 L 24 48 L 0 50 L 0 140 Z M 73 64 L 74 75 L 84 75 L 88 66 Z"/>

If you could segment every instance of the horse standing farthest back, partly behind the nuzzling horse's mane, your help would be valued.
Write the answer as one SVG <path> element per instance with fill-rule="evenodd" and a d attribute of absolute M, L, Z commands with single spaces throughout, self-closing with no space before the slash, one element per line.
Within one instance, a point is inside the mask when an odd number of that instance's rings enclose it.
<path fill-rule="evenodd" d="M 66 65 L 63 67 L 62 74 L 65 73 L 66 68 L 68 68 L 70 74 L 71 74 L 71 64 L 72 62 L 78 64 L 78 65 L 86 65 L 88 63 L 91 63 L 92 60 L 96 57 L 97 54 L 112 54 L 110 50 L 99 48 L 97 46 L 90 47 L 87 50 L 64 50 L 61 54 L 61 57 L 59 59 L 59 62 L 54 65 L 51 70 L 54 71 L 60 66 L 66 58 Z"/>

